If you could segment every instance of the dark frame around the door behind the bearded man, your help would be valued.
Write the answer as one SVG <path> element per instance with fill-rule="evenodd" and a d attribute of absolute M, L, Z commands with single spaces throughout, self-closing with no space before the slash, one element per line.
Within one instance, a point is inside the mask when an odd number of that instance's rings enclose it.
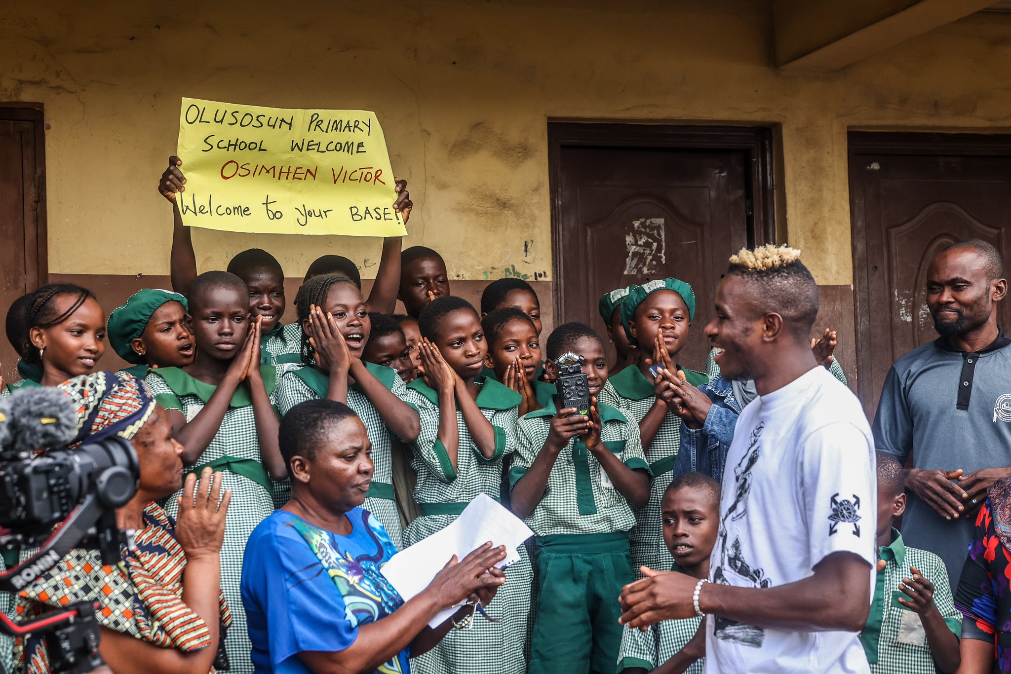
<path fill-rule="evenodd" d="M 847 180 L 849 182 L 849 227 L 853 246 L 853 324 L 856 328 L 856 371 L 870 354 L 870 300 L 867 270 L 867 223 L 859 196 L 857 175 L 866 171 L 863 155 L 1011 157 L 1011 134 L 934 131 L 848 131 Z M 856 378 L 856 396 L 861 403 L 870 399 L 870 377 Z M 868 418 L 872 418 L 872 414 Z"/>

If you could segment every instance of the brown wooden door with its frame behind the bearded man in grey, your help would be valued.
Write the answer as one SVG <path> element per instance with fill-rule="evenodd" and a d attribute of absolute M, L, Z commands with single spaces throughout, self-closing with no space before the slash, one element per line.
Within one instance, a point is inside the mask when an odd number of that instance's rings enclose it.
<path fill-rule="evenodd" d="M 874 418 L 889 368 L 937 339 L 926 304 L 933 257 L 982 238 L 1011 260 L 1011 135 L 849 134 L 857 394 Z M 1007 301 L 998 320 L 1007 327 Z"/>

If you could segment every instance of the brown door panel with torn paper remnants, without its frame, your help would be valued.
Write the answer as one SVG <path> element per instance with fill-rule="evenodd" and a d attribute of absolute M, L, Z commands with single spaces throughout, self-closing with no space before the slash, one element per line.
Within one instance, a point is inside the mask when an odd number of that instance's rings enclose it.
<path fill-rule="evenodd" d="M 743 152 L 566 148 L 561 158 L 562 212 L 572 215 L 562 220 L 566 319 L 602 329 L 605 293 L 679 278 L 698 297 L 680 360 L 703 368 L 716 285 L 747 245 Z"/>

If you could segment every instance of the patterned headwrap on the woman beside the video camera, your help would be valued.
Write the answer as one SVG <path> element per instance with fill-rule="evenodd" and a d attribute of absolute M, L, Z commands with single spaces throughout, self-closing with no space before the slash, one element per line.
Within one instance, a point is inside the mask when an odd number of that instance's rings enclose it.
<path fill-rule="evenodd" d="M 98 443 L 110 436 L 131 440 L 155 411 L 155 396 L 133 375 L 96 372 L 57 386 L 77 408 L 77 436 L 71 447 Z"/>

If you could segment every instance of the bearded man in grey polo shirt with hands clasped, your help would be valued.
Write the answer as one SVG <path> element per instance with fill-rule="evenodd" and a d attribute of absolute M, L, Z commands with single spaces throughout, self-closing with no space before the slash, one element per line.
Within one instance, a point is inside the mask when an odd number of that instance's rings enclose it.
<path fill-rule="evenodd" d="M 952 590 L 987 488 L 1011 475 L 1011 340 L 997 324 L 1007 293 L 1000 253 L 980 239 L 941 251 L 927 272 L 940 334 L 892 366 L 875 419 L 878 449 L 906 462 L 906 544 L 937 554 Z"/>

